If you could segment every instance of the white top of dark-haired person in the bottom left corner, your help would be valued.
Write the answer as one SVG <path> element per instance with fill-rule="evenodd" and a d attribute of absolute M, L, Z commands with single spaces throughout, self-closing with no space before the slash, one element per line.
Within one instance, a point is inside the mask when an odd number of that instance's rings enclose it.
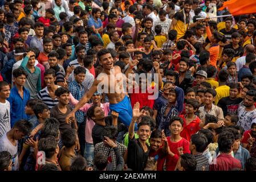
<path fill-rule="evenodd" d="M 0 138 L 0 152 L 8 151 L 11 154 L 11 161 L 13 161 L 14 166 L 12 171 L 19 170 L 19 160 L 18 160 L 18 141 L 16 142 L 16 146 L 11 144 L 10 140 L 7 138 L 6 133 L 3 134 L 3 137 Z"/>

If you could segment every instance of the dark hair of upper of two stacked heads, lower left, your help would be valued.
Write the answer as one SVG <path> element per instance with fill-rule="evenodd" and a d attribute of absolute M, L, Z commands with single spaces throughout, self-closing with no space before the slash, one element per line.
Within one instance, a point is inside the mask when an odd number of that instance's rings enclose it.
<path fill-rule="evenodd" d="M 41 138 L 48 136 L 58 137 L 59 121 L 56 118 L 47 118 L 41 130 Z"/>

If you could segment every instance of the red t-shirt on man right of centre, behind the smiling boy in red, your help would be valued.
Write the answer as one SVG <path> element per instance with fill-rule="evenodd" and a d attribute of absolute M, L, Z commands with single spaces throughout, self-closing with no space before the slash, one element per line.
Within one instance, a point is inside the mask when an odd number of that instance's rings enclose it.
<path fill-rule="evenodd" d="M 180 136 L 190 141 L 191 136 L 197 133 L 198 130 L 200 130 L 199 124 L 201 122 L 201 119 L 196 116 L 196 118 L 192 122 L 186 125 L 185 115 L 180 115 L 180 117 L 184 121 L 183 130 L 181 131 Z"/>

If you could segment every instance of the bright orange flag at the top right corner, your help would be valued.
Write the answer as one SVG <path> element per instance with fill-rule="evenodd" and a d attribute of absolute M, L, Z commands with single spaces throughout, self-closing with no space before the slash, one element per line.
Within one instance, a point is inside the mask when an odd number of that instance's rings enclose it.
<path fill-rule="evenodd" d="M 256 13 L 256 1 L 255 0 L 230 0 L 224 2 L 224 5 L 219 10 L 223 10 L 225 7 L 229 10 L 233 16 Z"/>

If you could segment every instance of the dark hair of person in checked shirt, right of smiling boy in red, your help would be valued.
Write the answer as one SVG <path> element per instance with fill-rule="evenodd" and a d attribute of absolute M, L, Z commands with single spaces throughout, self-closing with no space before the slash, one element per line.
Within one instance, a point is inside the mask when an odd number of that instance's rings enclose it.
<path fill-rule="evenodd" d="M 191 141 L 196 146 L 196 151 L 200 153 L 204 152 L 208 146 L 208 140 L 204 134 L 193 134 Z"/>

